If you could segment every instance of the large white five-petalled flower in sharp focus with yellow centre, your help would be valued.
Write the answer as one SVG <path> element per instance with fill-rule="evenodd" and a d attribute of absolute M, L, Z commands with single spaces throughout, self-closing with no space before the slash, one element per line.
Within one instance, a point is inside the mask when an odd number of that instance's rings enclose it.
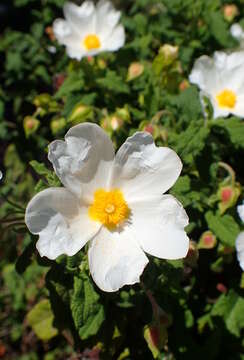
<path fill-rule="evenodd" d="M 71 128 L 65 141 L 49 145 L 48 158 L 65 188 L 38 193 L 26 209 L 26 224 L 39 234 L 41 256 L 72 256 L 89 242 L 91 275 L 104 291 L 139 281 L 148 258 L 185 257 L 188 217 L 171 195 L 182 164 L 149 133 L 137 132 L 114 154 L 95 124 Z"/>

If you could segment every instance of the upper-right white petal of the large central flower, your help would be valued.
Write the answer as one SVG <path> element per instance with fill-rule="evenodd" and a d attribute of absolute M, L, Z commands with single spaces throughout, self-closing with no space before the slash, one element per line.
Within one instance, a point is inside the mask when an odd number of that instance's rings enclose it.
<path fill-rule="evenodd" d="M 156 147 L 149 133 L 137 132 L 118 150 L 110 184 L 122 189 L 127 201 L 147 198 L 171 188 L 181 168 L 173 150 Z"/>

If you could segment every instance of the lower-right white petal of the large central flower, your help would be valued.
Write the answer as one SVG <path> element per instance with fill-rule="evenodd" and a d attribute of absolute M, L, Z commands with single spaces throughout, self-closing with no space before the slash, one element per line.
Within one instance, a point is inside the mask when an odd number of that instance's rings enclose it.
<path fill-rule="evenodd" d="M 129 203 L 130 229 L 141 247 L 161 259 L 186 256 L 189 239 L 184 231 L 188 217 L 182 205 L 171 195 Z"/>

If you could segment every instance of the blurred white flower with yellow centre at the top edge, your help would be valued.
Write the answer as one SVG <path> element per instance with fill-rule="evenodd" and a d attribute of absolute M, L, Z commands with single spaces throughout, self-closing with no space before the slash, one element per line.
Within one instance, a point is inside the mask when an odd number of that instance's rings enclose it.
<path fill-rule="evenodd" d="M 109 1 L 100 0 L 96 7 L 92 1 L 81 6 L 67 2 L 64 16 L 65 20 L 54 21 L 53 31 L 71 58 L 80 60 L 102 51 L 116 51 L 124 45 L 124 28 L 118 25 L 120 12 Z"/>

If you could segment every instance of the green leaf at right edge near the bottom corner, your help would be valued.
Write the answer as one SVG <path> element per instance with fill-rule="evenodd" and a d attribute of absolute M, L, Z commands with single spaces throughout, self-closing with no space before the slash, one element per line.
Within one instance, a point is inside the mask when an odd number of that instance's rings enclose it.
<path fill-rule="evenodd" d="M 214 304 L 211 314 L 223 317 L 227 329 L 235 336 L 241 335 L 244 328 L 244 298 L 234 290 L 227 295 L 221 295 Z"/>

